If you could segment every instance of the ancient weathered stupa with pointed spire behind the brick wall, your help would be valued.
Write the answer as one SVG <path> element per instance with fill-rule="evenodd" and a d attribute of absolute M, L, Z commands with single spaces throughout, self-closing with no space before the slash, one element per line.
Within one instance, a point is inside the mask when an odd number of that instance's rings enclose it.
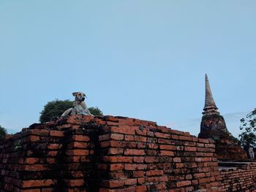
<path fill-rule="evenodd" d="M 220 115 L 211 93 L 206 74 L 206 100 L 200 125 L 199 138 L 213 139 L 216 145 L 217 158 L 220 160 L 245 159 L 246 152 L 238 145 L 237 139 L 227 131 L 225 119 Z"/>

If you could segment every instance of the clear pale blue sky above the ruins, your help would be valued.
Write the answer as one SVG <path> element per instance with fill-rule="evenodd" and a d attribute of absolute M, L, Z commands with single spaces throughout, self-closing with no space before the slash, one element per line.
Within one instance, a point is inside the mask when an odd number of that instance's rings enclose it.
<path fill-rule="evenodd" d="M 0 1 L 0 125 L 87 94 L 105 115 L 200 130 L 204 74 L 228 129 L 256 106 L 256 1 Z"/>

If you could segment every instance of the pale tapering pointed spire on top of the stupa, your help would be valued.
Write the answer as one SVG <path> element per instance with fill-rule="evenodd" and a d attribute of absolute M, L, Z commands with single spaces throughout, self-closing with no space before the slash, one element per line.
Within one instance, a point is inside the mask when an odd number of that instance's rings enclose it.
<path fill-rule="evenodd" d="M 203 111 L 204 111 L 203 115 L 212 115 L 212 114 L 219 115 L 218 107 L 216 106 L 214 97 L 212 96 L 212 93 L 211 93 L 211 87 L 210 87 L 207 74 L 206 74 L 206 100 L 205 100 L 205 107 L 203 107 Z"/>

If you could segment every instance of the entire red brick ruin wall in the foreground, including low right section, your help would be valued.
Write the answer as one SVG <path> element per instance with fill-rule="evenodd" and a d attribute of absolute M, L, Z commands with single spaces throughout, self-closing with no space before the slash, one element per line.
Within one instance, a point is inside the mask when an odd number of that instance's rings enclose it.
<path fill-rule="evenodd" d="M 214 151 L 151 121 L 75 115 L 0 141 L 0 191 L 256 191 L 255 163 L 219 169 Z"/>

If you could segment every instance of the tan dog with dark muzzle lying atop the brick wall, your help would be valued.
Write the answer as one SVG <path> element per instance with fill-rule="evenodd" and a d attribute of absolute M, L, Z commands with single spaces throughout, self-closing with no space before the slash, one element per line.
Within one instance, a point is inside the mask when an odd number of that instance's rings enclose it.
<path fill-rule="evenodd" d="M 86 97 L 85 93 L 82 92 L 75 92 L 72 93 L 75 96 L 74 107 L 69 108 L 66 110 L 62 115 L 61 118 L 69 115 L 91 115 L 91 112 L 86 106 L 86 102 L 84 101 Z M 94 116 L 94 115 L 91 115 Z"/>

